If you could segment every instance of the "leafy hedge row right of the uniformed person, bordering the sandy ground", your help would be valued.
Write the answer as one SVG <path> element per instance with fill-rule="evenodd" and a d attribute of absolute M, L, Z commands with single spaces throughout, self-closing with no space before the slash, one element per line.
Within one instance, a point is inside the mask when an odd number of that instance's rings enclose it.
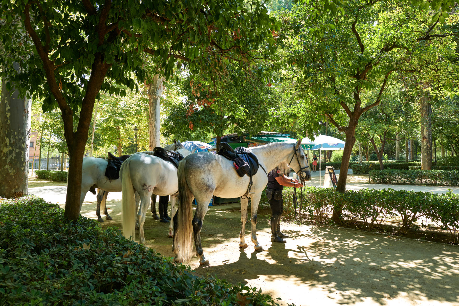
<path fill-rule="evenodd" d="M 284 203 L 291 209 L 293 189 L 285 188 Z M 435 225 L 448 229 L 453 243 L 459 243 L 459 195 L 449 191 L 439 195 L 422 191 L 394 189 L 347 190 L 306 187 L 302 211 L 318 223 L 325 223 L 334 207 L 341 207 L 347 218 L 358 218 L 367 226 L 381 223 L 385 217 L 400 216 L 402 230 L 409 229 L 420 218 L 429 218 Z M 424 224 L 426 225 L 426 224 Z"/>

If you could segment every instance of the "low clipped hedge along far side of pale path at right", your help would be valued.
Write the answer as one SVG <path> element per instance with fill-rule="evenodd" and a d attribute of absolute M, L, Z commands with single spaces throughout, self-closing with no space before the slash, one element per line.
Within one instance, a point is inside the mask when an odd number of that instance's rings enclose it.
<path fill-rule="evenodd" d="M 371 170 L 371 180 L 377 184 L 431 184 L 459 186 L 459 171 L 445 170 Z"/>

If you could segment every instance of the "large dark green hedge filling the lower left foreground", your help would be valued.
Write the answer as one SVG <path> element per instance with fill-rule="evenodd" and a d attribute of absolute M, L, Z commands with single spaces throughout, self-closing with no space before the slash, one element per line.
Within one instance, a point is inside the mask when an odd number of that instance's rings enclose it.
<path fill-rule="evenodd" d="M 34 196 L 0 202 L 0 268 L 0 305 L 275 305 Z"/>

